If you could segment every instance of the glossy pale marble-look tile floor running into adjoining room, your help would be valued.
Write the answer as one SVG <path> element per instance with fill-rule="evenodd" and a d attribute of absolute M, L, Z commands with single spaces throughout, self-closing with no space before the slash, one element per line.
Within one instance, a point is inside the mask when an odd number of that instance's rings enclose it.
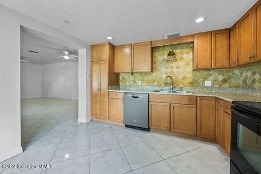
<path fill-rule="evenodd" d="M 91 121 L 77 122 L 77 100 L 23 99 L 24 152 L 0 164 L 0 174 L 229 174 L 215 144 Z"/>

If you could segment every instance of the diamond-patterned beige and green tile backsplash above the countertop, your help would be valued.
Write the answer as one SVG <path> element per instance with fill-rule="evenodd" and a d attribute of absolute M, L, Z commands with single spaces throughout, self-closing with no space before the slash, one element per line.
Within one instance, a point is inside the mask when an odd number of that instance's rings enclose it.
<path fill-rule="evenodd" d="M 170 45 L 153 48 L 153 73 L 121 73 L 120 85 L 169 86 L 164 84 L 166 76 L 171 76 L 178 87 L 204 87 L 210 80 L 211 87 L 243 87 L 261 89 L 261 65 L 248 68 L 226 70 L 192 71 L 193 43 L 173 45 L 177 62 L 166 62 Z"/>

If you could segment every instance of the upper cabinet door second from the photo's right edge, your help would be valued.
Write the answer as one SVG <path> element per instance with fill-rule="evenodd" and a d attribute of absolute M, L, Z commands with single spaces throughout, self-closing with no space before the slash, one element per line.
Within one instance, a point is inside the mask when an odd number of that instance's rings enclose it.
<path fill-rule="evenodd" d="M 253 53 L 253 14 L 249 10 L 238 22 L 239 25 L 239 65 L 252 62 Z"/>

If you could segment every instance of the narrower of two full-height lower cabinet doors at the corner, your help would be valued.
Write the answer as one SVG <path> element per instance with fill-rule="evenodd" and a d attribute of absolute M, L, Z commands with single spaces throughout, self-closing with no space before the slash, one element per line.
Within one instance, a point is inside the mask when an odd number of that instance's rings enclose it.
<path fill-rule="evenodd" d="M 222 147 L 222 113 L 223 100 L 216 99 L 216 141 Z"/>

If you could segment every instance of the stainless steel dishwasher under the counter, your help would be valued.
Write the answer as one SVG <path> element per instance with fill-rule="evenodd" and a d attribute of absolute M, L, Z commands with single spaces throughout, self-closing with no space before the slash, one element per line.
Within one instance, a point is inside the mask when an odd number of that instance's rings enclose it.
<path fill-rule="evenodd" d="M 131 127 L 149 131 L 149 94 L 124 93 L 123 123 Z"/>

